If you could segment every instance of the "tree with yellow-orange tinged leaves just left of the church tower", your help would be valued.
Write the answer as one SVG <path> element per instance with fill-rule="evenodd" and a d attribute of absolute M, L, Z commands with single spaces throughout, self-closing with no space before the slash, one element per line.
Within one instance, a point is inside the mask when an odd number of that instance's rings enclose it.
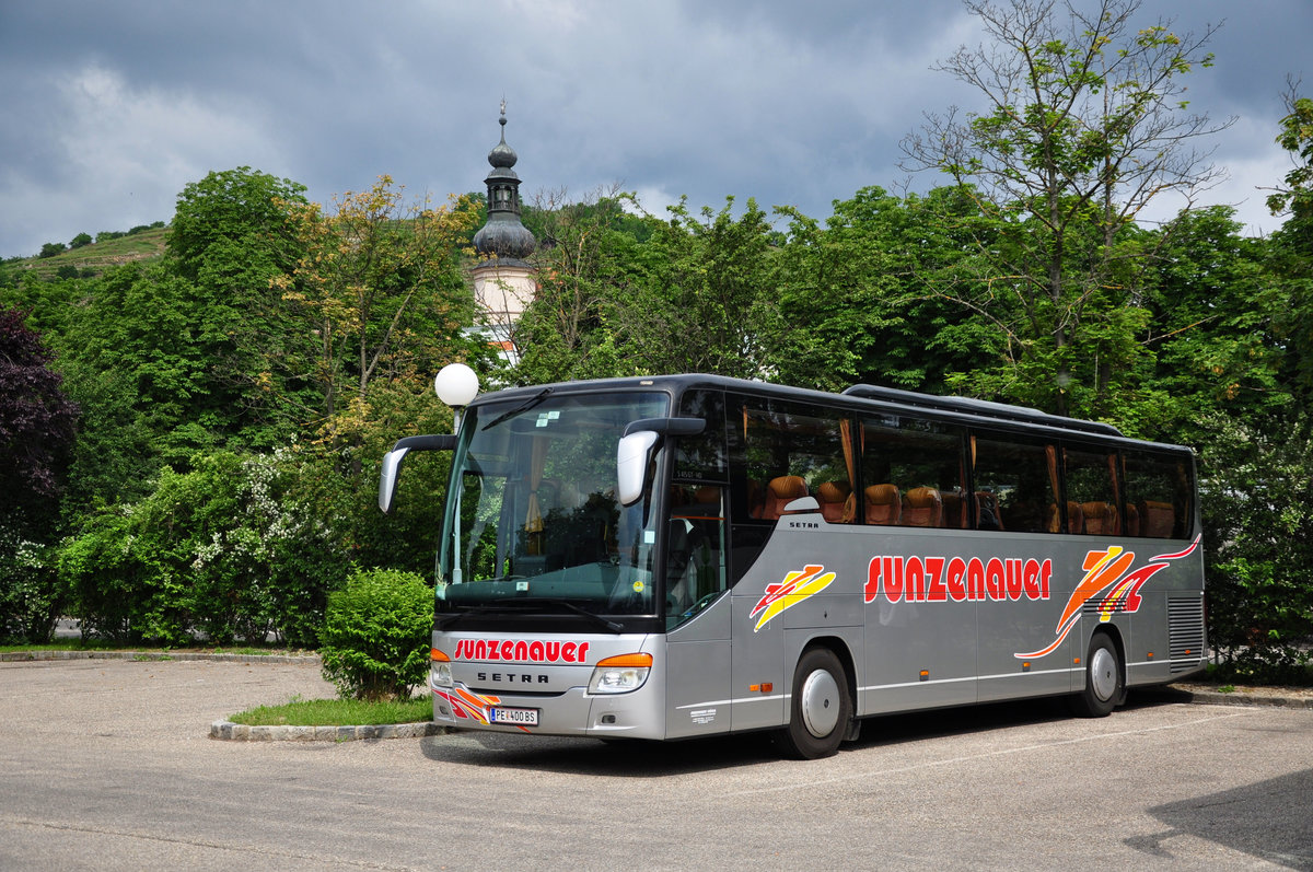
<path fill-rule="evenodd" d="M 368 418 L 372 383 L 427 377 L 465 355 L 460 327 L 473 301 L 456 244 L 474 215 L 463 201 L 407 205 L 389 176 L 343 194 L 331 214 L 289 205 L 306 255 L 272 286 L 299 324 L 299 343 L 274 347 L 261 376 L 309 386 L 277 397 L 285 414 L 358 444 L 353 433 Z"/>

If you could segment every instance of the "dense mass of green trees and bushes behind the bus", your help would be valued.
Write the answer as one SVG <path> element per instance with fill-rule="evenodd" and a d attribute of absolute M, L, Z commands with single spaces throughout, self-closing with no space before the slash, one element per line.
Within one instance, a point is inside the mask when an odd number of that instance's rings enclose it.
<path fill-rule="evenodd" d="M 1180 156 L 1165 120 L 1199 47 L 1132 35 L 1161 77 L 1116 83 L 1129 96 L 1113 114 L 1088 102 L 1102 74 L 1071 75 L 1090 53 L 1031 49 L 1048 56 L 1032 92 L 1053 104 L 910 141 L 944 183 L 924 194 L 861 188 L 826 219 L 751 200 L 651 215 L 618 193 L 529 210 L 540 289 L 513 368 L 462 331 L 482 204 L 410 204 L 387 177 L 320 209 L 291 180 L 214 172 L 168 229 L 0 265 L 0 636 L 41 638 L 72 613 L 118 640 L 315 645 L 355 570 L 431 571 L 445 458 L 407 461 L 424 469 L 393 519 L 374 489 L 397 437 L 449 432 L 431 380 L 461 360 L 484 385 L 869 382 L 1191 445 L 1211 640 L 1233 671 L 1300 675 L 1313 101 L 1292 92 L 1272 131 L 1293 162 L 1271 180 L 1280 231 L 1245 236 L 1225 205 L 1141 226 L 1136 148 Z M 1159 167 L 1191 169 L 1207 181 L 1208 167 Z"/>

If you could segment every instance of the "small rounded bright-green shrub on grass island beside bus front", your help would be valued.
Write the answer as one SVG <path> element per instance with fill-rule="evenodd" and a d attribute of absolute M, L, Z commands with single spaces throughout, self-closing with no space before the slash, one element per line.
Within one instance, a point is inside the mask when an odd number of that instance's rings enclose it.
<path fill-rule="evenodd" d="M 407 699 L 423 683 L 433 590 L 415 573 L 369 570 L 328 595 L 324 678 L 343 697 Z"/>

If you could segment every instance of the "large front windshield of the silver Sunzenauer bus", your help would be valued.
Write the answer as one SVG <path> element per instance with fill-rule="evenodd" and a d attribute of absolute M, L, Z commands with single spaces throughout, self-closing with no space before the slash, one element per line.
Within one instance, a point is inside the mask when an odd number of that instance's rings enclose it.
<path fill-rule="evenodd" d="M 660 393 L 542 393 L 470 408 L 444 519 L 439 611 L 551 600 L 654 613 L 659 470 L 635 504 L 621 506 L 616 447 L 626 424 L 668 408 Z"/>

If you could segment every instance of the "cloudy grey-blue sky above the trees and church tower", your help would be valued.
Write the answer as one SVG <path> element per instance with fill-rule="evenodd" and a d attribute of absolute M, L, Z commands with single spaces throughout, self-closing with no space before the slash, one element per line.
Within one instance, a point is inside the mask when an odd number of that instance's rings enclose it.
<path fill-rule="evenodd" d="M 1088 8 L 1092 0 L 1075 0 Z M 1222 24 L 1191 109 L 1253 232 L 1289 160 L 1288 75 L 1313 89 L 1313 1 L 1145 0 L 1142 26 Z M 620 185 L 818 218 L 898 168 L 926 112 L 981 108 L 936 60 L 981 38 L 960 0 L 0 0 L 0 257 L 168 221 L 211 169 L 316 202 L 389 173 L 414 197 L 482 190 L 507 101 L 523 192 Z M 1166 209 L 1170 217 L 1175 209 Z"/>

